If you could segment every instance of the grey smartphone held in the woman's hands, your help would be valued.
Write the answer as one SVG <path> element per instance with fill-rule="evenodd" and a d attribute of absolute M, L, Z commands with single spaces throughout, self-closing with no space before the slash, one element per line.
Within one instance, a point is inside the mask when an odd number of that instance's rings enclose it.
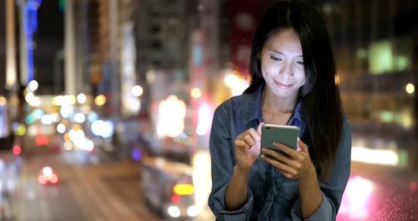
<path fill-rule="evenodd" d="M 281 149 L 273 145 L 273 142 L 279 142 L 292 149 L 297 149 L 299 128 L 289 125 L 271 125 L 265 124 L 261 126 L 261 149 L 264 147 L 276 150 L 285 154 Z M 260 156 L 263 152 L 260 152 Z M 287 155 L 287 154 L 286 154 Z"/>

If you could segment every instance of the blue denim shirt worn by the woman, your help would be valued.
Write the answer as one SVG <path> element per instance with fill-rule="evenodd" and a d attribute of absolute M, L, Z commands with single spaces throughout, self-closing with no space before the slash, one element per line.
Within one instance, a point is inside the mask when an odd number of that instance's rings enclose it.
<path fill-rule="evenodd" d="M 249 128 L 256 129 L 263 121 L 263 88 L 262 85 L 252 94 L 232 97 L 215 110 L 210 132 L 213 186 L 208 203 L 216 220 L 303 220 L 298 181 L 286 178 L 278 169 L 260 158 L 256 159 L 249 171 L 247 203 L 236 211 L 225 210 L 225 193 L 237 162 L 235 139 Z M 302 137 L 305 123 L 300 113 L 300 101 L 288 125 L 298 126 L 299 137 Z M 309 151 L 312 156 L 315 148 L 309 147 Z M 339 210 L 351 168 L 351 125 L 345 116 L 335 157 L 329 180 L 322 182 L 318 176 L 322 203 L 306 220 L 335 220 Z"/>

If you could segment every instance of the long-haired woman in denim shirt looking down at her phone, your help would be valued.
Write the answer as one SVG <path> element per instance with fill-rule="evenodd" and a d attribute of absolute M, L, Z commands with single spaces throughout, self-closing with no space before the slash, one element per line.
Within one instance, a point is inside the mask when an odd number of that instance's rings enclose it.
<path fill-rule="evenodd" d="M 249 88 L 213 118 L 210 209 L 217 220 L 335 220 L 350 174 L 351 125 L 320 13 L 302 1 L 273 4 L 250 65 Z M 298 126 L 298 150 L 260 147 L 263 123 Z"/>

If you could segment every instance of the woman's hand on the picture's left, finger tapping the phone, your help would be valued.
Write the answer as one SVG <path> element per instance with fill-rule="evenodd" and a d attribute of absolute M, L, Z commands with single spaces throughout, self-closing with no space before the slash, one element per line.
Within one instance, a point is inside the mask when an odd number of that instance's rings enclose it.
<path fill-rule="evenodd" d="M 260 141 L 261 141 L 261 125 L 260 123 L 257 130 L 249 128 L 237 136 L 235 140 L 235 157 L 237 158 L 237 169 L 239 171 L 248 172 L 257 157 L 260 154 Z"/>

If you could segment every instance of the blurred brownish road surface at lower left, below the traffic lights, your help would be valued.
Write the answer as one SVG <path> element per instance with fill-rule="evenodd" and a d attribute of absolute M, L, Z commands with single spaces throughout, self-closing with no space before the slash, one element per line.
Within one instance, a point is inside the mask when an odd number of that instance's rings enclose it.
<path fill-rule="evenodd" d="M 17 220 L 164 220 L 142 203 L 140 164 L 111 160 L 82 164 L 89 158 L 80 153 L 23 159 Z M 58 174 L 57 185 L 38 183 L 43 166 Z M 193 220 L 213 217 L 203 211 Z"/>

